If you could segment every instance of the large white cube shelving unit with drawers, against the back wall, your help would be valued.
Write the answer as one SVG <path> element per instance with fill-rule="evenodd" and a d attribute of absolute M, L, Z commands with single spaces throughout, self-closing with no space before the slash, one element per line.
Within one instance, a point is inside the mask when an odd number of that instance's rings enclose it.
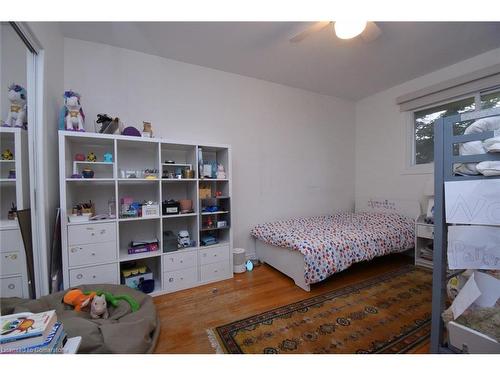
<path fill-rule="evenodd" d="M 224 165 L 227 179 L 203 179 L 198 176 L 198 152 L 204 160 Z M 97 162 L 75 162 L 76 154 L 93 152 Z M 102 162 L 104 153 L 113 162 Z M 159 138 L 127 137 L 96 133 L 59 132 L 62 259 L 64 287 L 85 283 L 122 282 L 120 270 L 131 262 L 147 265 L 153 272 L 152 295 L 223 280 L 232 277 L 231 229 L 231 150 L 227 145 L 203 145 L 174 142 Z M 167 161 L 175 161 L 167 163 Z M 72 178 L 83 168 L 94 170 L 94 178 Z M 156 178 L 143 178 L 145 169 L 157 171 Z M 183 169 L 194 170 L 194 178 L 168 178 Z M 138 171 L 140 178 L 123 178 L 122 171 Z M 223 196 L 200 199 L 199 187 L 210 185 Z M 160 205 L 158 216 L 120 217 L 120 200 L 153 201 Z M 161 202 L 190 199 L 193 212 L 163 214 Z M 74 205 L 92 201 L 96 215 L 106 215 L 108 201 L 115 203 L 114 217 L 104 220 L 71 222 Z M 218 212 L 202 212 L 206 205 L 222 202 Z M 207 228 L 206 218 L 227 223 L 224 228 Z M 196 246 L 171 249 L 164 233 L 177 236 L 188 230 Z M 201 240 L 215 236 L 218 243 L 203 246 Z M 159 250 L 128 254 L 131 241 L 158 238 Z M 173 251 L 172 251 L 173 250 Z"/>

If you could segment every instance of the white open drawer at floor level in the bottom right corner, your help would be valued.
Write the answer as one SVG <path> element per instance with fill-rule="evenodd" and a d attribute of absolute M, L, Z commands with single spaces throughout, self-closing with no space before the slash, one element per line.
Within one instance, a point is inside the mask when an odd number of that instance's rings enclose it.
<path fill-rule="evenodd" d="M 456 322 L 448 323 L 448 336 L 450 344 L 470 354 L 500 353 L 500 343 L 491 337 L 483 335 L 469 327 Z"/>

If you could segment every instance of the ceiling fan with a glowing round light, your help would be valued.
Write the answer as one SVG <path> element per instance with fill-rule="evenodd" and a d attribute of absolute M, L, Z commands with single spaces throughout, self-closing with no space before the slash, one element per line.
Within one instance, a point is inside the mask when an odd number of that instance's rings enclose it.
<path fill-rule="evenodd" d="M 365 42 L 371 42 L 379 37 L 382 33 L 380 28 L 375 22 L 365 21 L 321 21 L 316 22 L 308 27 L 301 33 L 295 35 L 290 39 L 292 43 L 298 43 L 310 36 L 317 33 L 326 27 L 332 27 L 335 34 L 340 39 L 351 39 L 356 36 L 361 36 Z"/>

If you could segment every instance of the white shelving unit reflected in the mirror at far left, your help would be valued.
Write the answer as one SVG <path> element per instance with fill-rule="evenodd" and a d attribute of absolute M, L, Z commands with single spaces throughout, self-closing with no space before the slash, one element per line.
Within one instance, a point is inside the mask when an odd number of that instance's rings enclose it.
<path fill-rule="evenodd" d="M 29 298 L 24 243 L 17 220 L 8 219 L 12 204 L 29 208 L 28 134 L 0 127 L 0 152 L 9 149 L 13 160 L 0 160 L 0 297 Z M 8 178 L 10 171 L 15 178 Z"/>

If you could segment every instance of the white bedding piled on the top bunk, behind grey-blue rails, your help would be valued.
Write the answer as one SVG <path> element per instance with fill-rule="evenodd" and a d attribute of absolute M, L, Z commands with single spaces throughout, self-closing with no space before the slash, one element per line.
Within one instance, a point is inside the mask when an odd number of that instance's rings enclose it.
<path fill-rule="evenodd" d="M 465 129 L 464 134 L 476 134 L 493 131 L 495 137 L 484 141 L 462 143 L 459 146 L 460 155 L 479 155 L 487 152 L 500 152 L 500 116 L 486 117 L 474 121 Z M 454 169 L 455 173 L 465 175 L 497 176 L 500 175 L 500 161 L 483 161 L 480 163 L 461 163 Z"/>

